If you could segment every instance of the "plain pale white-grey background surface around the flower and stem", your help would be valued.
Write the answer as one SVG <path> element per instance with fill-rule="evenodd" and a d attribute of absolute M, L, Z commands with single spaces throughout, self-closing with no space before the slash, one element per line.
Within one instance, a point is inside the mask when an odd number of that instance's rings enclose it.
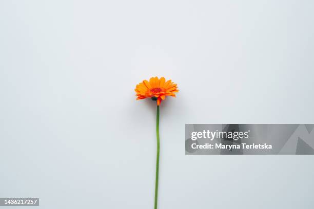
<path fill-rule="evenodd" d="M 0 196 L 36 208 L 313 208 L 313 156 L 185 155 L 185 123 L 314 123 L 313 1 L 1 1 Z M 13 208 L 13 207 L 10 207 Z"/>

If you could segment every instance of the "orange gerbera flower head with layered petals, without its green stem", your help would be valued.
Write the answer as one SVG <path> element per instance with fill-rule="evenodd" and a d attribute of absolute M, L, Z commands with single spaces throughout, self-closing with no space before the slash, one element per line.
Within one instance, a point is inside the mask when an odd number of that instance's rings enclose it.
<path fill-rule="evenodd" d="M 167 80 L 164 77 L 160 79 L 158 77 L 151 77 L 149 81 L 143 80 L 143 82 L 136 85 L 136 96 L 138 99 L 151 98 L 152 100 L 157 100 L 157 105 L 159 106 L 161 101 L 166 98 L 166 96 L 175 97 L 175 92 L 179 92 L 176 83 Z"/>

